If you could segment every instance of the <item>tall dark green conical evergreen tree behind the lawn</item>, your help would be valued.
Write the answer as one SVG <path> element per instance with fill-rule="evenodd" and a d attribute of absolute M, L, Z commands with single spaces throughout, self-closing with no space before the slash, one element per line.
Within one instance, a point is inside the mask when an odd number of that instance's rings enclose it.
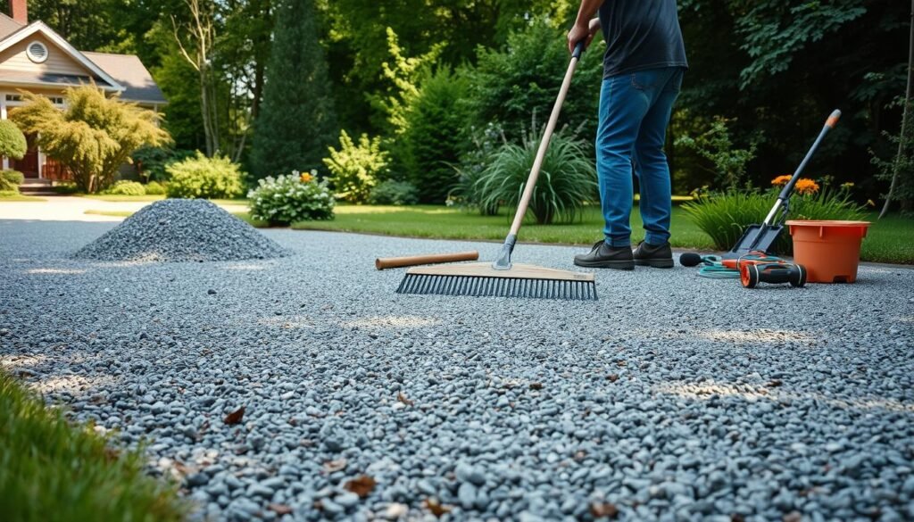
<path fill-rule="evenodd" d="M 275 16 L 250 155 L 250 172 L 257 177 L 320 168 L 338 134 L 314 0 L 281 0 Z"/>

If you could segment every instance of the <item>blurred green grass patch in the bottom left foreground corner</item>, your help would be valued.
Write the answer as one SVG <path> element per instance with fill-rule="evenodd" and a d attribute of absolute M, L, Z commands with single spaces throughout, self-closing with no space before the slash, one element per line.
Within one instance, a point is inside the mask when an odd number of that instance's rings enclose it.
<path fill-rule="evenodd" d="M 176 487 L 139 450 L 70 424 L 0 369 L 0 506 L 5 520 L 183 520 Z"/>

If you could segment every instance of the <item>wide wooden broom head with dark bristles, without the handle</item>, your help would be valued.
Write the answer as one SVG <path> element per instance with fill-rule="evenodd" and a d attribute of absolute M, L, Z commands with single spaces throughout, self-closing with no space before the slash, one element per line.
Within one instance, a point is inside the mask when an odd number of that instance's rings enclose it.
<path fill-rule="evenodd" d="M 597 285 L 590 273 L 524 264 L 496 271 L 489 263 L 467 263 L 409 269 L 397 293 L 596 301 Z"/>

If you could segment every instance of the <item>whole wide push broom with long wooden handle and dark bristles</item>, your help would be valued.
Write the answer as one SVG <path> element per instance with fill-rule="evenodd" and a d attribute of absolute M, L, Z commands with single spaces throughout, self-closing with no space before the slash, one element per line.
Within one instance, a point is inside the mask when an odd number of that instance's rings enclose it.
<path fill-rule="evenodd" d="M 517 242 L 517 234 L 526 216 L 526 208 L 533 197 L 539 170 L 546 157 L 552 133 L 558 122 L 558 113 L 568 94 L 571 77 L 578 66 L 584 41 L 578 42 L 571 53 L 571 62 L 565 79 L 558 90 L 558 99 L 549 115 L 546 130 L 537 150 L 537 157 L 527 177 L 524 192 L 515 212 L 514 222 L 505 238 L 505 244 L 498 258 L 490 263 L 463 263 L 441 266 L 410 268 L 397 293 L 438 293 L 443 295 L 471 295 L 497 297 L 531 297 L 541 299 L 575 299 L 595 301 L 597 285 L 592 273 L 567 272 L 513 263 L 511 254 Z"/>

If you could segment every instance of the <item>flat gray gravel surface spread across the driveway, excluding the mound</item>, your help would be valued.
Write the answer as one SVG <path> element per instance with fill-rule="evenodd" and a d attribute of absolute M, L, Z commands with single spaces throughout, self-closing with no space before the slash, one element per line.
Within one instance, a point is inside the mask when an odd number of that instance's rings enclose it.
<path fill-rule="evenodd" d="M 749 291 L 639 267 L 599 272 L 595 303 L 404 296 L 375 257 L 498 245 L 268 230 L 291 257 L 67 259 L 109 228 L 0 221 L 0 361 L 148 441 L 197 518 L 914 519 L 909 269 Z M 362 475 L 365 498 L 345 487 Z"/>

